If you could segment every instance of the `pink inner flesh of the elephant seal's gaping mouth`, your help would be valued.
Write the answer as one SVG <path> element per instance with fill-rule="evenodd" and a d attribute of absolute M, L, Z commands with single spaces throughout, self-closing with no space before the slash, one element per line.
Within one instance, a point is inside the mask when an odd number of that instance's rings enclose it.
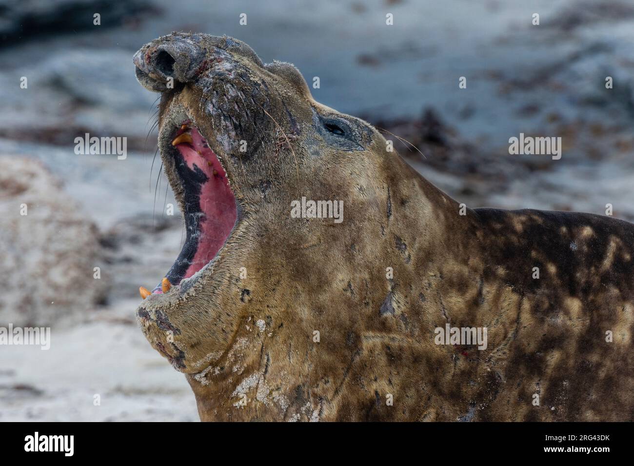
<path fill-rule="evenodd" d="M 216 256 L 238 216 L 233 191 L 216 154 L 197 129 L 191 128 L 191 138 L 193 147 L 181 143 L 176 148 L 191 170 L 198 167 L 208 179 L 200 185 L 200 210 L 204 215 L 200 217 L 198 249 L 183 278 L 194 275 Z"/>

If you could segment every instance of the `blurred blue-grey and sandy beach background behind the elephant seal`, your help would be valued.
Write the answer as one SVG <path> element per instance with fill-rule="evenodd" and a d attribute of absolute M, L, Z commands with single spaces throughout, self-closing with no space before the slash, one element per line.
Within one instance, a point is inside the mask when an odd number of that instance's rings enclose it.
<path fill-rule="evenodd" d="M 407 139 L 399 153 L 470 207 L 634 219 L 629 0 L 0 0 L 0 326 L 51 327 L 48 351 L 0 346 L 0 421 L 198 420 L 134 321 L 183 228 L 132 55 L 174 30 L 319 77 L 316 100 Z M 125 136 L 127 158 L 76 155 L 85 133 Z M 561 159 L 509 155 L 519 133 L 561 137 Z"/>

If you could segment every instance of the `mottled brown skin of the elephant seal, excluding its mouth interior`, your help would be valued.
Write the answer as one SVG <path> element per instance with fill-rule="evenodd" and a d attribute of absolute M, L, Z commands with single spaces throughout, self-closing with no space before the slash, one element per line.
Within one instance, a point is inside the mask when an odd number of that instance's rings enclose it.
<path fill-rule="evenodd" d="M 372 126 L 314 101 L 292 65 L 264 65 L 228 37 L 174 33 L 135 63 L 142 84 L 164 91 L 160 144 L 184 108 L 241 210 L 193 285 L 138 309 L 150 343 L 186 373 L 202 420 L 634 418 L 632 224 L 460 215 Z M 290 217 L 302 196 L 343 200 L 344 221 Z M 487 327 L 486 350 L 435 344 L 448 322 Z"/>

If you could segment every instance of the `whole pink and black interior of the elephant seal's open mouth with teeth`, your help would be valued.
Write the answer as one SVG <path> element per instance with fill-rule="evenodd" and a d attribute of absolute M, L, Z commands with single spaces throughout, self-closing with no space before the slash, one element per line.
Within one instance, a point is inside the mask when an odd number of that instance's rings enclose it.
<path fill-rule="evenodd" d="M 235 226 L 238 212 L 224 167 L 191 120 L 174 127 L 171 147 L 162 148 L 174 157 L 174 178 L 181 185 L 186 240 L 176 262 L 152 293 L 167 292 L 209 264 Z M 175 190 L 176 191 L 176 190 Z M 167 279 L 167 280 L 166 280 Z M 141 290 L 141 295 L 144 290 Z M 145 290 L 146 296 L 150 294 Z M 144 298 L 146 297 L 144 296 Z"/>

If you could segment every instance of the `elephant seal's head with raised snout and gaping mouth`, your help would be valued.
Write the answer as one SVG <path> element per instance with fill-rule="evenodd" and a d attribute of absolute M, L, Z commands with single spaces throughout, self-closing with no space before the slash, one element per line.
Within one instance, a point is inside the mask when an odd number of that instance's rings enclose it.
<path fill-rule="evenodd" d="M 249 302 L 265 299 L 258 284 L 328 261 L 301 262 L 297 250 L 338 247 L 344 227 L 292 218 L 292 201 L 345 198 L 352 235 L 361 224 L 351 200 L 374 202 L 366 174 L 389 153 L 370 124 L 314 101 L 294 65 L 265 65 L 231 37 L 174 32 L 139 49 L 134 64 L 138 81 L 162 93 L 160 156 L 187 233 L 166 274 L 171 288 L 157 286 L 138 319 L 174 367 L 199 373 L 228 351 Z"/>

